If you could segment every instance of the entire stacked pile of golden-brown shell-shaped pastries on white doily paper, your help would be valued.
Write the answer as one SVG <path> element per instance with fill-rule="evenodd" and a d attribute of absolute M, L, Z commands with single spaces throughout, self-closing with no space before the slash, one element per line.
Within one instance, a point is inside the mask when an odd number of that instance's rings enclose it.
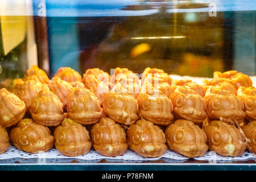
<path fill-rule="evenodd" d="M 26 152 L 54 145 L 67 156 L 92 147 L 105 156 L 128 148 L 152 158 L 168 148 L 188 157 L 208 150 L 238 156 L 246 148 L 256 153 L 256 89 L 237 71 L 214 72 L 199 85 L 156 68 L 142 76 L 93 68 L 81 76 L 64 67 L 49 80 L 33 66 L 11 90 L 0 90 L 0 125 L 1 153 L 10 138 Z"/>

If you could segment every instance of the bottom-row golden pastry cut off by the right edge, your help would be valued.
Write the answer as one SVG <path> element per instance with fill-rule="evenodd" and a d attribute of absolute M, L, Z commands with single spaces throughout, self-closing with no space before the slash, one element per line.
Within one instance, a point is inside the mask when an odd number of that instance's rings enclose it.
<path fill-rule="evenodd" d="M 256 121 L 251 121 L 242 127 L 243 133 L 246 138 L 250 140 L 247 143 L 247 150 L 256 154 Z"/>

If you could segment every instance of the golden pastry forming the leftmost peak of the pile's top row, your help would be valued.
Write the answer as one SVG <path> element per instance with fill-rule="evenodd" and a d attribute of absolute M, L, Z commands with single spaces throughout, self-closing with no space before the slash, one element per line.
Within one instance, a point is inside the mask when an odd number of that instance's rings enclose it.
<path fill-rule="evenodd" d="M 33 77 L 33 76 L 36 76 L 36 77 Z M 27 69 L 27 72 L 24 75 L 23 80 L 24 81 L 27 81 L 27 80 L 40 81 L 42 84 L 49 83 L 49 78 L 46 72 L 44 72 L 43 69 L 38 68 L 37 65 L 32 65 L 32 68 Z"/>

